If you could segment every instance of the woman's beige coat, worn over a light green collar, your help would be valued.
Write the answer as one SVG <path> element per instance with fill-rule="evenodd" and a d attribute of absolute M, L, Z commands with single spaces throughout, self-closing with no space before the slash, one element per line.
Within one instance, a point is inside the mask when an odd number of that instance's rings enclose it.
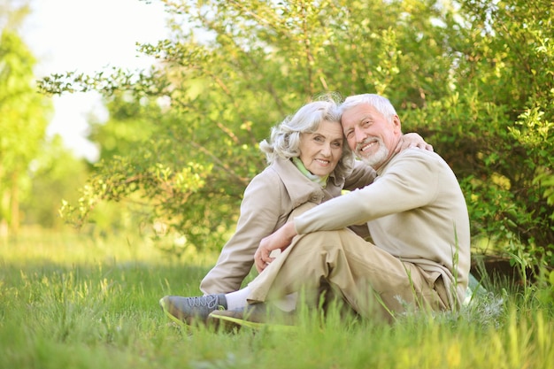
<path fill-rule="evenodd" d="M 261 239 L 282 227 L 293 210 L 302 204 L 320 204 L 340 196 L 342 188 L 362 188 L 373 182 L 375 176 L 373 169 L 358 163 L 346 181 L 332 174 L 327 187 L 320 188 L 290 160 L 276 159 L 244 191 L 235 234 L 224 245 L 200 289 L 204 294 L 238 290 L 250 273 Z"/>

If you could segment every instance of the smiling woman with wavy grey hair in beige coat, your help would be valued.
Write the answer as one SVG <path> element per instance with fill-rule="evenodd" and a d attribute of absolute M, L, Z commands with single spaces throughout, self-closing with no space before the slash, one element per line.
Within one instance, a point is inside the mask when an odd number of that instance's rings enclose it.
<path fill-rule="evenodd" d="M 363 188 L 373 182 L 373 169 L 355 161 L 344 144 L 337 108 L 333 99 L 305 104 L 273 127 L 268 141 L 260 142 L 269 165 L 244 191 L 235 234 L 200 284 L 204 296 L 163 297 L 160 305 L 169 318 L 191 323 L 195 318 L 205 320 L 219 306 L 231 309 L 234 301 L 242 304 L 244 295 L 236 294 L 241 293 L 238 290 L 250 273 L 262 238 L 296 213 L 340 196 L 342 189 Z M 418 146 L 432 150 L 419 135 L 408 136 L 403 149 Z M 231 296 L 234 291 L 238 292 Z"/>

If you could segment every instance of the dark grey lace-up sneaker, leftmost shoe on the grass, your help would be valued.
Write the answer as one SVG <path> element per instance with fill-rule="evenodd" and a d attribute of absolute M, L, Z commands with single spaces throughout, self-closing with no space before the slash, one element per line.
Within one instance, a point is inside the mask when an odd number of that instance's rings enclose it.
<path fill-rule="evenodd" d="M 226 310 L 227 300 L 224 294 L 196 297 L 164 296 L 159 305 L 165 315 L 177 323 L 205 323 L 212 311 Z"/>

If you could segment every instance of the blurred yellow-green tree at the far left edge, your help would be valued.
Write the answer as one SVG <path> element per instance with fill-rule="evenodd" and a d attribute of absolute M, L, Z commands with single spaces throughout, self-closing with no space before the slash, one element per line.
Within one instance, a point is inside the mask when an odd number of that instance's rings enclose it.
<path fill-rule="evenodd" d="M 23 7 L 8 12 L 0 35 L 0 235 L 19 229 L 21 181 L 45 135 L 50 99 L 36 93 L 35 58 L 15 31 Z"/>

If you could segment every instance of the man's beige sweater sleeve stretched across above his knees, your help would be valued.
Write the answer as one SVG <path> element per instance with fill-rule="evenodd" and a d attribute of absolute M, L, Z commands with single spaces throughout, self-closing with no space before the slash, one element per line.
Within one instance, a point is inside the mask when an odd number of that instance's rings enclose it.
<path fill-rule="evenodd" d="M 404 150 L 371 186 L 320 204 L 297 217 L 296 232 L 341 229 L 428 204 L 436 193 L 434 160 Z"/>

